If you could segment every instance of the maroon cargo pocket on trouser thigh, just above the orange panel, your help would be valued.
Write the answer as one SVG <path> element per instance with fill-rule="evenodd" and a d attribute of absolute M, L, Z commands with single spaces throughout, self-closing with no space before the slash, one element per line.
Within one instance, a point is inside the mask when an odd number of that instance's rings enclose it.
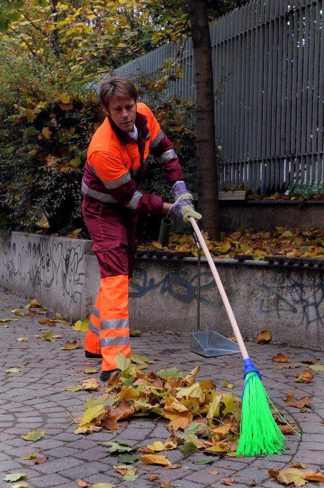
<path fill-rule="evenodd" d="M 91 251 L 98 259 L 101 278 L 128 274 L 127 248 L 120 244 L 120 239 L 96 242 Z"/>

